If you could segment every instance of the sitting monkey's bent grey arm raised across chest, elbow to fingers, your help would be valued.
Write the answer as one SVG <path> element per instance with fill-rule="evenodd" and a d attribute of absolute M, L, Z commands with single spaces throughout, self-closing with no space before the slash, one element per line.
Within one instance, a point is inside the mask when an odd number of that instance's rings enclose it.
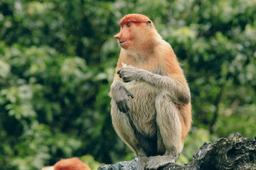
<path fill-rule="evenodd" d="M 119 77 L 124 82 L 136 80 L 151 84 L 151 86 L 168 94 L 174 103 L 185 105 L 191 101 L 191 95 L 186 81 L 183 82 L 171 77 L 154 74 L 144 69 L 137 69 L 131 65 L 122 67 L 118 70 L 117 74 L 119 74 Z"/>

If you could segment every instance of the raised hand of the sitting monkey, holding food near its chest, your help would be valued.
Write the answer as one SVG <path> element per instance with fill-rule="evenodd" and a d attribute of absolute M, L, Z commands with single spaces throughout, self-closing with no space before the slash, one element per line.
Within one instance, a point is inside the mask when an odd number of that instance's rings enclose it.
<path fill-rule="evenodd" d="M 137 69 L 132 65 L 128 65 L 119 69 L 117 74 L 119 74 L 119 77 L 124 81 L 124 83 L 127 83 L 132 80 L 139 80 L 139 73 L 141 70 L 142 69 Z"/>

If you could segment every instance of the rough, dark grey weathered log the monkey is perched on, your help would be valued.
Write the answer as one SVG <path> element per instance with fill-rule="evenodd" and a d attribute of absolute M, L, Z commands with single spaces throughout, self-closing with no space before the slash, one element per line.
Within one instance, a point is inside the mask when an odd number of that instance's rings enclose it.
<path fill-rule="evenodd" d="M 135 170 L 137 169 L 137 161 L 135 158 L 130 162 L 118 162 L 117 164 L 100 166 L 98 170 Z M 188 164 L 167 164 L 159 168 L 161 170 L 240 170 L 240 169 L 256 169 L 256 137 L 250 139 L 242 137 L 239 133 L 235 133 L 233 137 L 220 138 L 213 144 L 205 142 L 195 154 Z"/>

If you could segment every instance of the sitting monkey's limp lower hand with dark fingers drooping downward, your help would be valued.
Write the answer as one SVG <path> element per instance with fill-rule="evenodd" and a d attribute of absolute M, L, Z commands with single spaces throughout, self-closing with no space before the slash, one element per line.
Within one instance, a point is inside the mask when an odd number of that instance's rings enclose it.
<path fill-rule="evenodd" d="M 131 94 L 120 81 L 114 81 L 111 85 L 111 95 L 119 111 L 127 113 L 131 108 L 131 103 L 129 103 L 128 98 L 129 96 L 134 98 L 133 94 Z"/>

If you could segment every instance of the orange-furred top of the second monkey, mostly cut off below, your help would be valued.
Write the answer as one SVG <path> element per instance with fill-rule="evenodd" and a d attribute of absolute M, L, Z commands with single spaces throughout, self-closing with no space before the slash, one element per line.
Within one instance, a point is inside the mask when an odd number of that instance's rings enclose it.
<path fill-rule="evenodd" d="M 73 157 L 61 159 L 54 166 L 46 166 L 42 170 L 90 170 L 90 167 L 81 162 L 77 157 Z"/>

